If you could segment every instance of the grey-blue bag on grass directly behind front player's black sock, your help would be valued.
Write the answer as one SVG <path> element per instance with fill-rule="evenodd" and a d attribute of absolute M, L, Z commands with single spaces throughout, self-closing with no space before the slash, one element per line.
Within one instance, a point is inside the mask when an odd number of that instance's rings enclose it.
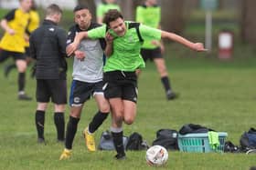
<path fill-rule="evenodd" d="M 128 137 L 123 136 L 123 146 L 127 145 Z M 100 144 L 98 146 L 99 150 L 114 150 L 114 145 L 112 142 L 112 134 L 110 131 L 102 132 Z"/>

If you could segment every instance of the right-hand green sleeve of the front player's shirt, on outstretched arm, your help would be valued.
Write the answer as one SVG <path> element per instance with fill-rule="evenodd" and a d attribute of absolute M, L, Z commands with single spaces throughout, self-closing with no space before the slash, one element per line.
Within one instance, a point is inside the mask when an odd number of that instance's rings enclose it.
<path fill-rule="evenodd" d="M 161 30 L 146 25 L 140 25 L 140 33 L 144 40 L 160 40 Z"/>

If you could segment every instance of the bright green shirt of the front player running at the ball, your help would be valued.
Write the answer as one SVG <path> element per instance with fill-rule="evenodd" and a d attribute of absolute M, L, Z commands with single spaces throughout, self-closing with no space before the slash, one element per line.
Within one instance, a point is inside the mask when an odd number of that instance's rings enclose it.
<path fill-rule="evenodd" d="M 115 36 L 113 40 L 113 52 L 107 58 L 104 72 L 115 70 L 133 72 L 137 68 L 145 66 L 144 60 L 140 55 L 142 43 L 136 33 L 135 28 L 128 29 L 130 22 L 125 21 L 126 33 L 123 36 L 117 36 L 110 29 L 110 33 Z M 159 40 L 161 38 L 161 30 L 155 29 L 146 25 L 140 25 L 140 34 L 144 40 Z M 88 36 L 91 39 L 103 38 L 106 35 L 106 25 L 97 27 L 88 31 Z"/>

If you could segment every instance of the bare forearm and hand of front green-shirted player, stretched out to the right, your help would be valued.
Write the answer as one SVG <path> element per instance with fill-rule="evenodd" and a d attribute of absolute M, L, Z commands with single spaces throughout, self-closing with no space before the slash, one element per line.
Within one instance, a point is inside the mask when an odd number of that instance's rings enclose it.
<path fill-rule="evenodd" d="M 193 43 L 193 42 L 187 40 L 186 38 L 184 38 L 180 35 L 176 35 L 174 33 L 169 33 L 169 32 L 166 32 L 166 31 L 162 31 L 161 32 L 161 38 L 167 38 L 169 40 L 176 41 L 177 43 L 185 45 L 188 48 L 191 48 L 191 49 L 196 50 L 198 52 L 207 51 L 207 49 L 204 48 L 204 45 L 202 43 Z"/>

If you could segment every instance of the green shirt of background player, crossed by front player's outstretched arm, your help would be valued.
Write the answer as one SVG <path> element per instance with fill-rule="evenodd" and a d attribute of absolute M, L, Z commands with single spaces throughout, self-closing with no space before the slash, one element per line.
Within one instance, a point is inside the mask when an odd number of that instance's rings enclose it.
<path fill-rule="evenodd" d="M 139 5 L 136 8 L 136 22 L 158 28 L 161 21 L 161 8 L 158 5 L 145 6 Z M 156 46 L 152 45 L 151 41 L 144 41 L 143 48 L 154 49 Z"/>

